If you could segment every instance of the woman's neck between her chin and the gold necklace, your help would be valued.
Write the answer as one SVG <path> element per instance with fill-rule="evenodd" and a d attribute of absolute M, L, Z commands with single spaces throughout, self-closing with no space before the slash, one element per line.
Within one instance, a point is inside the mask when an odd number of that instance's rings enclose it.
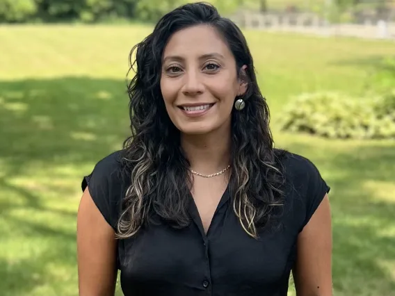
<path fill-rule="evenodd" d="M 181 135 L 191 169 L 200 174 L 213 174 L 230 164 L 230 131 L 213 131 L 204 135 Z"/>

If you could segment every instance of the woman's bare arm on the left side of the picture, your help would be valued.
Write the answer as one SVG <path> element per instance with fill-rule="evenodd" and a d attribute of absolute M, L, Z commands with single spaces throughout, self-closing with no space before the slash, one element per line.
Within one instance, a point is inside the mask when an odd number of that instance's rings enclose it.
<path fill-rule="evenodd" d="M 77 254 L 80 296 L 114 295 L 117 278 L 116 240 L 88 188 L 77 215 Z"/>

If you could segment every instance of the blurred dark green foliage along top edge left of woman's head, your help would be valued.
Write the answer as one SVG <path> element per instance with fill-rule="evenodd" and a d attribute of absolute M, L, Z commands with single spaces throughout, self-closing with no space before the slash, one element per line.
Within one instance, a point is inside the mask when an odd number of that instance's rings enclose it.
<path fill-rule="evenodd" d="M 227 14 L 243 1 L 208 2 Z M 188 2 L 191 0 L 0 0 L 0 22 L 100 22 L 116 18 L 153 22 Z"/>

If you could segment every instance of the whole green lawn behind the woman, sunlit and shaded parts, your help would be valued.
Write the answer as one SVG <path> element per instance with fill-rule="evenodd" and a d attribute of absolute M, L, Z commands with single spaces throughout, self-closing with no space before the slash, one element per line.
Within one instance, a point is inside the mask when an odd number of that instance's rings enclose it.
<path fill-rule="evenodd" d="M 78 294 L 81 178 L 128 135 L 127 58 L 149 32 L 0 26 L 1 295 Z M 369 74 L 395 44 L 246 35 L 277 147 L 310 158 L 332 187 L 334 295 L 395 296 L 395 142 L 292 135 L 276 123 L 293 94 L 374 88 Z"/>

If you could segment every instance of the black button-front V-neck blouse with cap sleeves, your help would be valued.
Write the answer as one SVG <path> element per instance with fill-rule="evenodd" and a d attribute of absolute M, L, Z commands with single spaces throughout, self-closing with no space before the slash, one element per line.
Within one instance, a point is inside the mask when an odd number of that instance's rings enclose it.
<path fill-rule="evenodd" d="M 289 154 L 284 167 L 288 189 L 282 227 L 261 231 L 259 240 L 241 227 L 228 190 L 220 199 L 207 235 L 191 202 L 189 227 L 153 224 L 132 238 L 118 240 L 124 295 L 287 295 L 298 233 L 330 188 L 307 158 Z M 82 189 L 89 187 L 97 208 L 114 229 L 130 183 L 130 174 L 120 163 L 120 151 L 99 161 L 83 179 Z"/>

